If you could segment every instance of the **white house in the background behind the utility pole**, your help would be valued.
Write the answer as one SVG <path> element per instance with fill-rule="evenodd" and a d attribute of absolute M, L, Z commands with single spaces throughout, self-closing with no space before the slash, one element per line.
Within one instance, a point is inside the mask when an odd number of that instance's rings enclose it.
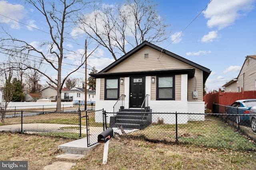
<path fill-rule="evenodd" d="M 65 90 L 61 93 L 64 93 L 65 96 L 72 96 L 73 98 L 73 104 L 78 105 L 78 104 L 82 104 L 84 105 L 84 101 L 85 101 L 85 96 L 84 96 L 84 88 L 78 88 L 78 87 L 74 87 L 70 90 Z M 87 89 L 86 91 L 86 103 L 90 104 L 90 103 L 95 103 L 95 91 L 92 89 Z"/>

